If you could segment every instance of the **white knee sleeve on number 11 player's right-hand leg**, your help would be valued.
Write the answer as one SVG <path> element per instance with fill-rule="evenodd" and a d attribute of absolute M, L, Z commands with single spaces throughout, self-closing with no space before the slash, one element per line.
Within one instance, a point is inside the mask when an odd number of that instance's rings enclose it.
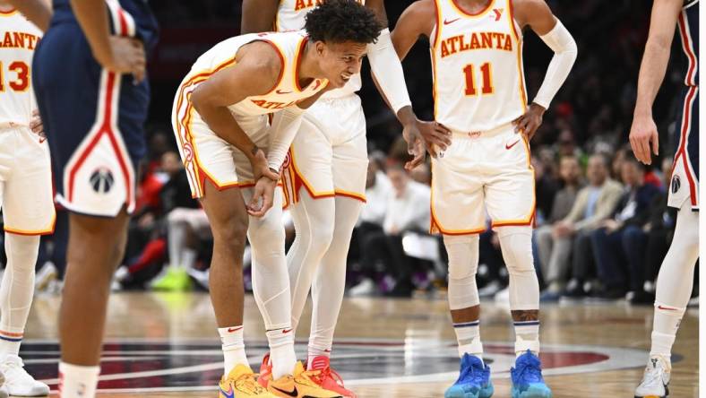
<path fill-rule="evenodd" d="M 538 309 L 539 281 L 532 256 L 531 227 L 501 227 L 497 234 L 510 275 L 510 308 Z"/>

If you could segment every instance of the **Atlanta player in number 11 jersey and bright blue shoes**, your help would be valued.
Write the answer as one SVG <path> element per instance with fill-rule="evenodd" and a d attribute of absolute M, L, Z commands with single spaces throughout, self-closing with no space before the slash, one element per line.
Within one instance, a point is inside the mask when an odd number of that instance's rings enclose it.
<path fill-rule="evenodd" d="M 522 74 L 525 27 L 555 52 L 529 107 Z M 420 0 L 392 33 L 400 56 L 419 35 L 431 41 L 436 121 L 453 132 L 443 157 L 432 160 L 432 229 L 443 234 L 449 253 L 449 307 L 461 355 L 461 376 L 445 396 L 493 394 L 482 359 L 475 280 L 487 211 L 510 274 L 517 354 L 512 397 L 549 397 L 538 358 L 529 141 L 573 66 L 576 44 L 542 0 Z"/>

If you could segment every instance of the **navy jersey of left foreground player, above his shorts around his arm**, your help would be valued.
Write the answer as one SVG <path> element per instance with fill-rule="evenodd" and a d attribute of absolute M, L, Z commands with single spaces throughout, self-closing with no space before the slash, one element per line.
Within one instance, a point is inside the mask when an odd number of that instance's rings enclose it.
<path fill-rule="evenodd" d="M 70 0 L 53 0 L 52 3 L 54 7 L 52 24 L 63 22 L 78 23 L 76 17 L 73 15 Z M 147 4 L 147 0 L 116 0 L 116 3 L 120 4 L 120 7 L 133 17 L 135 22 L 135 37 L 142 40 L 145 50 L 149 54 L 157 44 L 158 25 L 150 9 L 150 5 Z M 111 33 L 119 34 L 119 32 L 116 32 L 113 28 L 112 21 L 114 15 L 110 13 L 110 10 L 108 10 L 108 18 L 110 18 L 111 21 L 111 23 L 108 23 Z"/>

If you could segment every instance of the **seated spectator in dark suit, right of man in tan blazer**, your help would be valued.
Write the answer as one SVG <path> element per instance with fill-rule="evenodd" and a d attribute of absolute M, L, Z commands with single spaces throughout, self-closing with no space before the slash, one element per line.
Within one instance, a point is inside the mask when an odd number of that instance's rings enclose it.
<path fill-rule="evenodd" d="M 639 161 L 628 157 L 621 164 L 625 185 L 623 197 L 613 218 L 602 221 L 591 241 L 602 289 L 597 296 L 620 299 L 630 290 L 644 296 L 645 245 L 643 230 L 650 219 L 650 203 L 659 195 L 659 188 L 645 184 L 645 169 Z"/>

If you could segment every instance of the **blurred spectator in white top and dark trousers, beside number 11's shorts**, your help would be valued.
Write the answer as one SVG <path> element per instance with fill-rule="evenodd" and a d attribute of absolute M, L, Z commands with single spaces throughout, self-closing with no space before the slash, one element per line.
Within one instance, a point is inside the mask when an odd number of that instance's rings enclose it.
<path fill-rule="evenodd" d="M 392 285 L 389 295 L 409 297 L 413 260 L 405 254 L 402 238 L 406 232 L 429 228 L 431 189 L 413 181 L 400 164 L 390 166 L 387 176 L 392 183 L 392 193 L 387 199 L 383 230 L 366 237 L 362 264 L 383 264 L 387 280 Z"/>

